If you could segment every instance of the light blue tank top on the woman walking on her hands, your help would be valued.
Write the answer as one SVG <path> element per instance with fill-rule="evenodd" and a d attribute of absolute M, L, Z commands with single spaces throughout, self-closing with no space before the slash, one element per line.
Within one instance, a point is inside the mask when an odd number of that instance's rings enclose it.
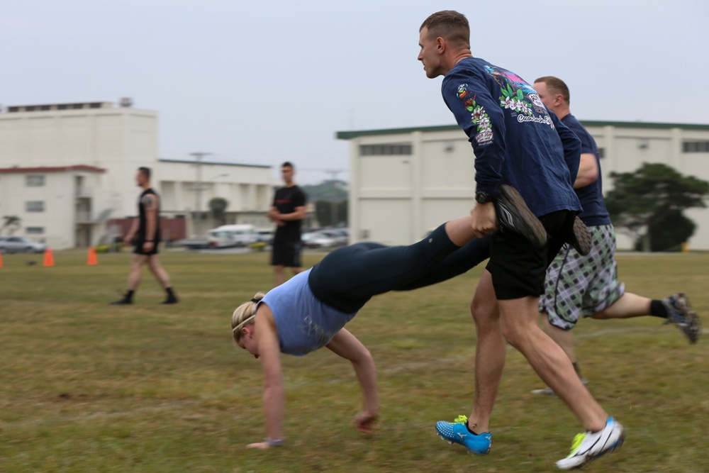
<path fill-rule="evenodd" d="M 308 269 L 296 274 L 271 289 L 259 302 L 259 306 L 266 304 L 271 308 L 281 352 L 288 355 L 303 356 L 324 347 L 357 315 L 320 302 L 308 286 L 310 272 Z"/>

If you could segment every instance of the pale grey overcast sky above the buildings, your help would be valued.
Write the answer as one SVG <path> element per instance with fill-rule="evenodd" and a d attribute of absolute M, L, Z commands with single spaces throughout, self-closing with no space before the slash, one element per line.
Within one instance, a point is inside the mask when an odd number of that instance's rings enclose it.
<path fill-rule="evenodd" d="M 581 120 L 709 124 L 706 0 L 0 0 L 0 104 L 131 97 L 162 158 L 347 179 L 337 131 L 454 124 L 416 60 L 442 9 L 474 56 L 564 79 Z"/>

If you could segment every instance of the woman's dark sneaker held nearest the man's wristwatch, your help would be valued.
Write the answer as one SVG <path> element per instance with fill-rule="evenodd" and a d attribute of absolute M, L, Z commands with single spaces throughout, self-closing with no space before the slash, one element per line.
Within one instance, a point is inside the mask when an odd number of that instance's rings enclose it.
<path fill-rule="evenodd" d="M 537 248 L 547 244 L 547 230 L 539 218 L 530 211 L 525 199 L 514 187 L 502 184 L 494 201 L 497 225 L 501 231 L 518 233 Z"/>

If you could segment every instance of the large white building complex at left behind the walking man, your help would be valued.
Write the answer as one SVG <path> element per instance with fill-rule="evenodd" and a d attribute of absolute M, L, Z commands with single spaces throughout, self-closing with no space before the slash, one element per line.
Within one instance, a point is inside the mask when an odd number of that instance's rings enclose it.
<path fill-rule="evenodd" d="M 95 245 L 108 219 L 135 216 L 138 167 L 152 169 L 161 213 L 203 235 L 208 202 L 229 203 L 225 223 L 270 226 L 271 167 L 160 160 L 157 112 L 110 102 L 11 106 L 0 113 L 0 218 L 18 216 L 19 233 L 59 250 Z M 201 228 L 204 227 L 204 228 Z M 184 236 L 184 235 L 182 235 Z"/>

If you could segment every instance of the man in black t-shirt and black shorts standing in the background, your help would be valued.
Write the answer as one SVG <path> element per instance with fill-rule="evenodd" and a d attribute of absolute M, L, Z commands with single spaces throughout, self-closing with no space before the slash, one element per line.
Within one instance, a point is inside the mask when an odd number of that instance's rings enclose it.
<path fill-rule="evenodd" d="M 273 206 L 268 216 L 276 223 L 273 237 L 273 255 L 275 284 L 286 282 L 285 268 L 291 268 L 295 276 L 301 268 L 301 221 L 306 216 L 306 194 L 293 182 L 294 166 L 290 162 L 281 165 L 281 175 L 286 184 L 276 191 Z"/>

